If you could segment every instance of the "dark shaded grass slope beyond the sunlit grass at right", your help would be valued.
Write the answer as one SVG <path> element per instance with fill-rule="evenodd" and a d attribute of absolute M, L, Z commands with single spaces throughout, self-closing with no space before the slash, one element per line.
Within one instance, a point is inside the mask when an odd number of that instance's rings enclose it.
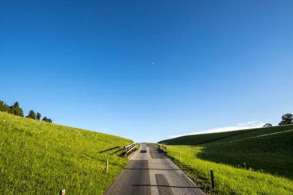
<path fill-rule="evenodd" d="M 293 179 L 293 130 L 200 146 L 201 159 Z"/>

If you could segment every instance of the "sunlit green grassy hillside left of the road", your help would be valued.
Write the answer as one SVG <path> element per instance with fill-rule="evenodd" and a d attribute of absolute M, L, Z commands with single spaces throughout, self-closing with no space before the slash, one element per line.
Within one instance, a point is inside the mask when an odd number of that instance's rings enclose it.
<path fill-rule="evenodd" d="M 126 165 L 119 155 L 131 142 L 0 112 L 0 194 L 101 195 Z"/>

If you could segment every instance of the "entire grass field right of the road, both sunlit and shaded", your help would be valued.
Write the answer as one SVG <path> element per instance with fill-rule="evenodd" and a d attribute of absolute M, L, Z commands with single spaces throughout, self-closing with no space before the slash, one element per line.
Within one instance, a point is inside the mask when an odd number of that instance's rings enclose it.
<path fill-rule="evenodd" d="M 169 144 L 167 155 L 210 194 L 293 195 L 293 125 L 164 142 Z M 210 169 L 215 175 L 214 190 L 210 189 Z"/>

